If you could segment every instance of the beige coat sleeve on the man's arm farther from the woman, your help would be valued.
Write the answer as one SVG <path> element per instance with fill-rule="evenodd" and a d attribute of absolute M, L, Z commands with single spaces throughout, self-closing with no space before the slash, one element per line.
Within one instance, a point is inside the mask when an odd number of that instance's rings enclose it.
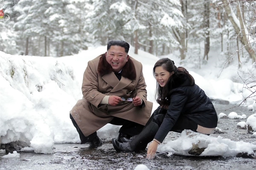
<path fill-rule="evenodd" d="M 82 93 L 83 97 L 97 108 L 106 96 L 99 92 L 98 73 L 92 61 L 88 62 L 87 68 L 84 71 Z"/>

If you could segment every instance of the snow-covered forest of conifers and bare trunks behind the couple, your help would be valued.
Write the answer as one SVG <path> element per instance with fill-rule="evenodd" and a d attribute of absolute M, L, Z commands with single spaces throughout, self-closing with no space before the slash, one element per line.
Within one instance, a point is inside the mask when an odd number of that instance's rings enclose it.
<path fill-rule="evenodd" d="M 223 68 L 249 64 L 241 81 L 256 86 L 255 0 L 0 0 L 1 9 L 8 54 L 61 57 L 122 39 L 135 54 L 173 54 L 195 69 L 216 55 Z"/>

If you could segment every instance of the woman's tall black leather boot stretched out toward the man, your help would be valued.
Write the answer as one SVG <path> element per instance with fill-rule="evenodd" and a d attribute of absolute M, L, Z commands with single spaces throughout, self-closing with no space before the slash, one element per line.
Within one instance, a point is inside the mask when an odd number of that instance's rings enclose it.
<path fill-rule="evenodd" d="M 139 152 L 146 149 L 146 144 L 151 142 L 157 133 L 159 126 L 155 122 L 150 122 L 139 135 L 136 135 L 129 142 L 120 143 L 112 139 L 112 144 L 117 152 Z"/>

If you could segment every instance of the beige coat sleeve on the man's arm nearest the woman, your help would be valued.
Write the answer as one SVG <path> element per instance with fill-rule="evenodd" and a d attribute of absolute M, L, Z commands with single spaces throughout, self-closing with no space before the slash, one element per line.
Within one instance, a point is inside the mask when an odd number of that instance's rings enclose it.
<path fill-rule="evenodd" d="M 139 96 L 143 101 L 141 107 L 145 107 L 145 104 L 147 101 L 147 90 L 146 90 L 145 78 L 142 72 L 142 64 L 140 63 L 140 65 L 141 65 L 140 78 L 136 86 L 136 89 L 137 89 L 137 96 Z"/>

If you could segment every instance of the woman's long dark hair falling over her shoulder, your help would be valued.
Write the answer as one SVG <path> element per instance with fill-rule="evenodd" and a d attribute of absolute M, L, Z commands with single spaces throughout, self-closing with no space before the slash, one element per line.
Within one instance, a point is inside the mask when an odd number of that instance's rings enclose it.
<path fill-rule="evenodd" d="M 194 78 L 192 75 L 189 74 L 189 72 L 183 68 L 183 67 L 176 67 L 174 65 L 174 61 L 172 61 L 169 58 L 162 58 L 159 59 L 153 68 L 153 74 L 155 74 L 155 68 L 162 66 L 163 69 L 168 71 L 169 73 L 173 73 L 171 77 L 169 77 L 166 85 L 164 87 L 161 87 L 158 82 L 157 82 L 157 87 L 155 89 L 155 100 L 157 101 L 158 104 L 160 105 L 169 105 L 169 92 L 174 88 L 174 77 L 183 77 L 183 75 L 187 75 L 189 78 L 190 84 L 194 84 Z"/>

